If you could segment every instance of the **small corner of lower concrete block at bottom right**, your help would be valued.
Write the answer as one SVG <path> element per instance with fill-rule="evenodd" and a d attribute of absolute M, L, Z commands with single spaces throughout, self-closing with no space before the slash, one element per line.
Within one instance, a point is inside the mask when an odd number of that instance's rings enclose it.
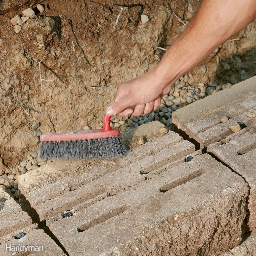
<path fill-rule="evenodd" d="M 256 255 L 256 230 L 239 246 L 219 256 L 255 256 Z"/>

